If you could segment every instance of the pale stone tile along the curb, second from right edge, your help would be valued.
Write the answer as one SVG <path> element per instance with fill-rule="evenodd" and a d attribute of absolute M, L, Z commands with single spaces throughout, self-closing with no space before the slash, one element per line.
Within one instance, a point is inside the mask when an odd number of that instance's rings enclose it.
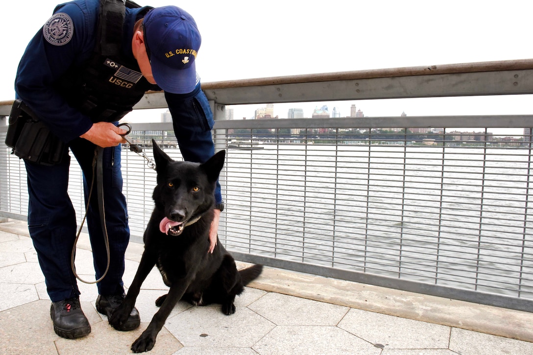
<path fill-rule="evenodd" d="M 338 327 L 385 349 L 448 349 L 450 327 L 351 309 Z"/>

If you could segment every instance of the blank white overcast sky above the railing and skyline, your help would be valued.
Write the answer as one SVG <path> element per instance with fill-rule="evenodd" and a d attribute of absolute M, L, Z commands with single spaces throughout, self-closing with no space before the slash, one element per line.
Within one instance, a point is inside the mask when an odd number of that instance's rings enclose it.
<path fill-rule="evenodd" d="M 202 35 L 197 70 L 203 82 L 379 68 L 533 58 L 531 1 L 295 1 L 138 0 L 188 11 Z M 3 4 L 4 75 L 0 100 L 13 99 L 19 59 L 51 16 L 57 0 Z M 355 103 L 366 116 L 532 114 L 531 95 L 497 98 L 365 100 L 291 104 L 310 116 L 314 106 Z M 250 117 L 261 105 L 236 108 Z M 289 106 L 274 105 L 286 117 Z M 150 119 L 151 120 L 151 119 Z"/>

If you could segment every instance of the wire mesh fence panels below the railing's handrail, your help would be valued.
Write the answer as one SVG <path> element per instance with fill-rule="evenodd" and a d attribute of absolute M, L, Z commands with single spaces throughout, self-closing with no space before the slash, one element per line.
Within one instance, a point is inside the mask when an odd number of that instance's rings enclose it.
<path fill-rule="evenodd" d="M 227 149 L 219 237 L 229 251 L 303 271 L 394 279 L 399 288 L 406 281 L 420 290 L 472 291 L 482 303 L 498 295 L 518 300 L 515 308 L 533 304 L 529 130 L 510 138 L 487 128 L 321 125 L 225 123 L 217 131 L 217 149 Z M 149 156 L 154 138 L 181 159 L 171 125 L 131 138 Z M 7 150 L 1 159 L 0 209 L 25 215 L 23 164 Z M 126 148 L 122 164 L 130 228 L 140 241 L 156 173 Z M 71 175 L 71 199 L 83 216 L 76 164 Z"/>

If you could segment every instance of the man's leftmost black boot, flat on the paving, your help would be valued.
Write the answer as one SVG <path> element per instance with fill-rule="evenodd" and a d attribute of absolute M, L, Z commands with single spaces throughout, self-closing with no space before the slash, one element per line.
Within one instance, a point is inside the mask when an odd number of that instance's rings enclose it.
<path fill-rule="evenodd" d="M 74 339 L 91 333 L 91 325 L 83 314 L 78 297 L 52 302 L 50 317 L 55 334 L 63 338 Z"/>

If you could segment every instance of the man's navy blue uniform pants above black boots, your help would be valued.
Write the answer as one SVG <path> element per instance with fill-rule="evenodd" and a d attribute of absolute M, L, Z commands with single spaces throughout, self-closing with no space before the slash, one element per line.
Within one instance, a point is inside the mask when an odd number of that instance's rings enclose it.
<path fill-rule="evenodd" d="M 95 145 L 84 139 L 69 143 L 83 171 L 85 204 L 93 177 Z M 79 295 L 76 278 L 70 267 L 70 255 L 77 233 L 76 214 L 68 196 L 70 162 L 54 166 L 26 163 L 28 173 L 28 227 L 43 271 L 47 292 L 52 302 Z M 120 146 L 104 149 L 104 209 L 110 246 L 110 265 L 100 281 L 99 294 L 124 292 L 124 253 L 130 239 L 126 199 L 122 193 Z M 93 249 L 95 277 L 99 279 L 107 265 L 107 252 L 100 223 L 100 212 L 94 182 L 87 212 L 87 227 Z"/>

